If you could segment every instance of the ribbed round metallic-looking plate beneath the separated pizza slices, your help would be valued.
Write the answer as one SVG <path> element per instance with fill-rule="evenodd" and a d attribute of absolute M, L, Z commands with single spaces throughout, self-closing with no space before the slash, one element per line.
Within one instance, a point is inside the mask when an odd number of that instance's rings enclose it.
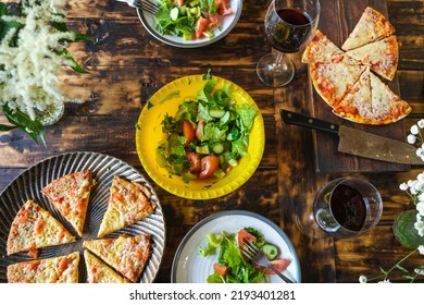
<path fill-rule="evenodd" d="M 96 185 L 91 188 L 90 205 L 87 211 L 86 224 L 82 237 L 75 243 L 42 248 L 39 258 L 48 258 L 80 252 L 83 255 L 83 241 L 97 237 L 102 217 L 108 207 L 110 186 L 114 175 L 128 181 L 137 181 L 152 191 L 152 200 L 158 205 L 153 215 L 138 221 L 123 230 L 108 236 L 117 237 L 120 234 L 136 235 L 149 233 L 153 236 L 154 247 L 140 282 L 152 282 L 162 261 L 165 247 L 165 223 L 158 196 L 151 185 L 134 168 L 124 161 L 111 156 L 97 152 L 71 152 L 46 159 L 27 169 L 18 175 L 0 195 L 0 282 L 7 282 L 7 267 L 10 264 L 32 260 L 26 253 L 7 255 L 5 245 L 12 221 L 27 199 L 34 199 L 42 208 L 49 210 L 53 217 L 61 221 L 71 233 L 77 236 L 71 224 L 60 215 L 53 205 L 45 197 L 40 190 L 48 183 L 67 173 L 91 169 Z M 84 257 L 79 263 L 79 281 L 86 282 L 87 272 Z"/>

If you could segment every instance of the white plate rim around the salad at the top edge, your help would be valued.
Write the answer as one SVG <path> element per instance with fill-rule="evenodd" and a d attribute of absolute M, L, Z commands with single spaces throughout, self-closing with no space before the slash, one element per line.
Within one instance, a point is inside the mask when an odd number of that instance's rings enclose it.
<path fill-rule="evenodd" d="M 151 1 L 155 2 L 155 0 L 151 0 Z M 198 48 L 220 40 L 233 29 L 233 27 L 237 24 L 238 19 L 240 17 L 241 7 L 242 7 L 241 3 L 242 3 L 241 0 L 230 1 L 230 8 L 234 13 L 232 15 L 224 17 L 223 25 L 214 30 L 215 37 L 192 39 L 192 40 L 185 40 L 183 37 L 177 37 L 173 35 L 162 35 L 155 29 L 154 17 L 151 14 L 141 12 L 138 9 L 137 9 L 137 14 L 145 28 L 158 40 L 166 45 L 179 47 L 179 48 Z"/>

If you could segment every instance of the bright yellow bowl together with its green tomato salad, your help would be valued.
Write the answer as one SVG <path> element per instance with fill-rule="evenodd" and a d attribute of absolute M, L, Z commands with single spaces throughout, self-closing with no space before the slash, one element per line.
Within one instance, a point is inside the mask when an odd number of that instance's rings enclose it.
<path fill-rule="evenodd" d="M 211 199 L 246 183 L 261 162 L 263 118 L 233 82 L 205 75 L 177 78 L 153 94 L 136 131 L 150 178 L 183 198 Z"/>

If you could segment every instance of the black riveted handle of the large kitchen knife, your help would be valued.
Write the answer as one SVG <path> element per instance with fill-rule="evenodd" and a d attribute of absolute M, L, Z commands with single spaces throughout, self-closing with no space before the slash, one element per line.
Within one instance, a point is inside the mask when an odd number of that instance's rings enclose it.
<path fill-rule="evenodd" d="M 299 125 L 312 130 L 338 134 L 339 125 L 337 124 L 284 109 L 279 109 L 279 114 L 282 115 L 282 119 L 286 124 Z"/>

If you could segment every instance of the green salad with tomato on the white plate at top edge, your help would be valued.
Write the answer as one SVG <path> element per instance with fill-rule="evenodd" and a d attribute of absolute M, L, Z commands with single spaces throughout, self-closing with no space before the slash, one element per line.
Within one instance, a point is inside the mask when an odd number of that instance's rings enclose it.
<path fill-rule="evenodd" d="M 186 40 L 213 38 L 223 17 L 232 15 L 229 0 L 158 0 L 155 27 L 162 35 L 175 35 Z"/>

